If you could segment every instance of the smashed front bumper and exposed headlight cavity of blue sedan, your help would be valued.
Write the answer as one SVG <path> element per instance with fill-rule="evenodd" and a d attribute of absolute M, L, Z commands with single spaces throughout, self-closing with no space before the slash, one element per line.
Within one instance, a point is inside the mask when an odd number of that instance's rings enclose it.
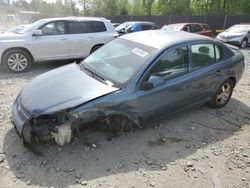
<path fill-rule="evenodd" d="M 64 145 L 72 138 L 71 123 L 64 112 L 36 114 L 28 112 L 18 96 L 12 107 L 11 121 L 24 144 L 38 141 L 55 141 Z"/>

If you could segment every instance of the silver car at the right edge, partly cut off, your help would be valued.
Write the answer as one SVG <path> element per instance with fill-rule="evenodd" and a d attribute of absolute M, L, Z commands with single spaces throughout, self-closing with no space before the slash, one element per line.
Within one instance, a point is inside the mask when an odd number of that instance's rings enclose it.
<path fill-rule="evenodd" d="M 233 25 L 217 36 L 222 42 L 245 48 L 250 42 L 250 24 Z"/>

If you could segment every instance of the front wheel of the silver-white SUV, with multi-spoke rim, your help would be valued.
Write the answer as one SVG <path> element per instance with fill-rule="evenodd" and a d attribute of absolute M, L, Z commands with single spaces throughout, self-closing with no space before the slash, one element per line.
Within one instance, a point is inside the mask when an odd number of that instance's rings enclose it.
<path fill-rule="evenodd" d="M 30 69 L 31 56 L 24 50 L 13 49 L 3 56 L 3 64 L 6 70 L 13 73 L 23 73 Z"/>

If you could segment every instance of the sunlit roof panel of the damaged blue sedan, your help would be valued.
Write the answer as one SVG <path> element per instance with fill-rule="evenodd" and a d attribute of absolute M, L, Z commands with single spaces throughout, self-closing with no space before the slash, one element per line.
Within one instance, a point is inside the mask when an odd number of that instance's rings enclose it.
<path fill-rule="evenodd" d="M 153 48 L 161 49 L 173 44 L 190 41 L 207 40 L 213 41 L 210 37 L 203 35 L 188 33 L 185 31 L 165 31 L 165 30 L 150 30 L 141 31 L 121 36 L 121 38 L 140 43 Z"/>

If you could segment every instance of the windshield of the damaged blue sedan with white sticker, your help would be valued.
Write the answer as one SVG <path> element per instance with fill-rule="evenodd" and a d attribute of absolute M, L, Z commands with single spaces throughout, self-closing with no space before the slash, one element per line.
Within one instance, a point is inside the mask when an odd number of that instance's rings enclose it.
<path fill-rule="evenodd" d="M 116 39 L 90 56 L 82 65 L 121 87 L 156 53 L 156 49 L 125 39 Z"/>

